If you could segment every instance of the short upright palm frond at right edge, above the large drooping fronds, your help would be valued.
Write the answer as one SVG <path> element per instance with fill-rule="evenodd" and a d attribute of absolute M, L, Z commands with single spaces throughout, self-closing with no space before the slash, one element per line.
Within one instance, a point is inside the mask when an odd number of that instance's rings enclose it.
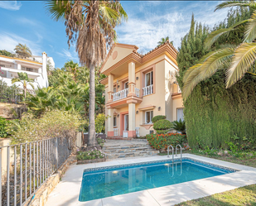
<path fill-rule="evenodd" d="M 256 11 L 249 18 L 248 24 L 245 26 L 244 42 L 252 42 L 256 37 Z"/>

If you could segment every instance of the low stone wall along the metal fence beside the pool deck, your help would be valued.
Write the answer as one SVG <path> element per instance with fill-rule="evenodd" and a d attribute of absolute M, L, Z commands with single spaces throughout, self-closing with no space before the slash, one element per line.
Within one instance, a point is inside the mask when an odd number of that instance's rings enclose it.
<path fill-rule="evenodd" d="M 35 198 L 31 200 L 29 206 L 44 206 L 46 204 L 48 195 L 51 191 L 55 189 L 56 185 L 60 182 L 60 178 L 65 174 L 65 171 L 69 165 L 76 163 L 76 156 L 70 156 L 65 162 L 60 166 L 54 175 L 51 175 L 48 180 L 36 191 Z M 27 204 L 29 201 L 27 202 Z M 25 204 L 25 205 L 27 205 Z"/>

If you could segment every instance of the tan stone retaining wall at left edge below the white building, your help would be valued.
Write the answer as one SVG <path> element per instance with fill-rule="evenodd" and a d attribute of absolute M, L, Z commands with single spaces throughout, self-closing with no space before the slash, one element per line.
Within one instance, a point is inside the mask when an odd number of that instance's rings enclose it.
<path fill-rule="evenodd" d="M 27 108 L 23 104 L 0 103 L 0 116 L 6 119 L 20 118 L 26 111 Z"/>

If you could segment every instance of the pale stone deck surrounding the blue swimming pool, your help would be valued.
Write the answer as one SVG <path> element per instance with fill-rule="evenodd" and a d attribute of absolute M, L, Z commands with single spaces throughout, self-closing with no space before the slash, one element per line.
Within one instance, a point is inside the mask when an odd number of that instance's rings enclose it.
<path fill-rule="evenodd" d="M 140 163 L 152 160 L 170 160 L 171 156 L 169 158 L 167 158 L 167 156 L 152 156 L 126 160 L 110 160 L 86 165 L 71 165 L 65 172 L 60 183 L 57 184 L 56 188 L 49 195 L 46 206 L 170 206 L 187 200 L 199 199 L 211 194 L 222 193 L 227 190 L 236 189 L 249 184 L 256 184 L 256 168 L 191 154 L 183 154 L 182 157 L 190 157 L 195 160 L 202 160 L 239 171 L 226 175 L 184 182 L 181 184 L 172 184 L 169 186 L 147 189 L 129 194 L 120 194 L 104 199 L 80 202 L 78 199 L 82 176 L 85 169 L 110 165 Z M 177 156 L 176 158 L 180 158 L 180 156 Z"/>

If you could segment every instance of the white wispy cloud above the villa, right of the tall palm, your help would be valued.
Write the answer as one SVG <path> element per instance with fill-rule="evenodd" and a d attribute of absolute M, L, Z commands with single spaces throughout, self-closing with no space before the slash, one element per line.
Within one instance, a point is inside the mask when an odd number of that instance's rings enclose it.
<path fill-rule="evenodd" d="M 154 3 L 145 2 L 139 5 L 139 11 L 143 11 L 143 17 L 138 17 L 133 11 L 131 15 L 128 13 L 128 22 L 117 27 L 118 42 L 136 45 L 139 47 L 139 52 L 147 53 L 157 46 L 157 42 L 162 37 L 169 36 L 170 41 L 174 41 L 174 46 L 178 48 L 181 45 L 181 37 L 185 36 L 190 29 L 193 11 L 195 11 L 196 22 L 208 26 L 214 26 L 215 23 L 223 21 L 227 13 L 225 9 L 214 12 L 215 6 L 212 2 L 211 5 L 208 2 L 193 2 L 190 4 L 191 7 L 176 7 L 168 12 L 152 12 L 148 7 L 154 7 Z M 162 3 L 164 7 L 171 5 L 167 2 Z"/>

